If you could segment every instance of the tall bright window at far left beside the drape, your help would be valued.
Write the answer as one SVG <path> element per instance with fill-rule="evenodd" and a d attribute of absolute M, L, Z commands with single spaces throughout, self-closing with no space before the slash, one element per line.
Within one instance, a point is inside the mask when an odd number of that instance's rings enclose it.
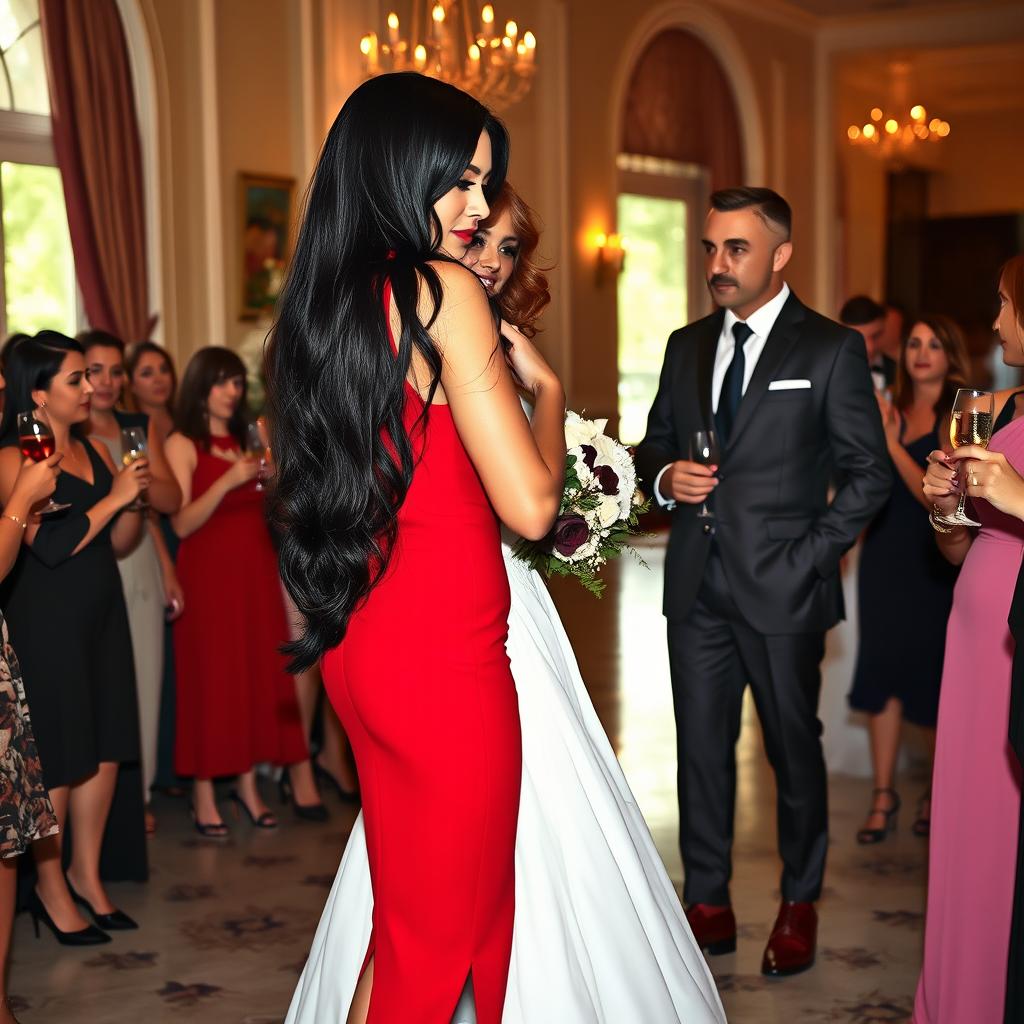
<path fill-rule="evenodd" d="M 60 174 L 53 158 L 38 0 L 0 0 L 0 336 L 80 317 Z"/>

